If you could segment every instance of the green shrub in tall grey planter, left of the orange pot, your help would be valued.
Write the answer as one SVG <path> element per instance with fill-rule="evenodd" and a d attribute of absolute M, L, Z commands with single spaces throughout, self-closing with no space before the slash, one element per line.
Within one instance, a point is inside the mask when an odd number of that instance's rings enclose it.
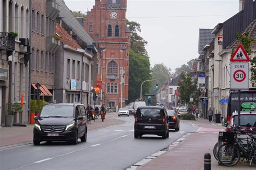
<path fill-rule="evenodd" d="M 11 127 L 14 124 L 14 115 L 21 112 L 22 107 L 20 103 L 8 103 L 8 115 L 6 115 L 6 126 Z"/>

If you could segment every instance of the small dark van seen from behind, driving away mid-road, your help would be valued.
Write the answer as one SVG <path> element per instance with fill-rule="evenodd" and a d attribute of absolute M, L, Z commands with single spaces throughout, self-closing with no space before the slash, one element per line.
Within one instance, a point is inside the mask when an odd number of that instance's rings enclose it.
<path fill-rule="evenodd" d="M 156 134 L 169 138 L 168 115 L 162 107 L 139 107 L 134 114 L 134 138 Z"/>

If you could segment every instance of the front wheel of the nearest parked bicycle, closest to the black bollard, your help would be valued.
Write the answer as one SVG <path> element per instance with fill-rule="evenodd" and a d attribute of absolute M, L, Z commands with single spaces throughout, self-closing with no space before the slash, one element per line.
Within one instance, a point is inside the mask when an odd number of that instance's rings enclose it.
<path fill-rule="evenodd" d="M 225 166 L 234 166 L 240 160 L 240 152 L 234 144 L 223 144 L 218 150 L 218 160 Z"/>

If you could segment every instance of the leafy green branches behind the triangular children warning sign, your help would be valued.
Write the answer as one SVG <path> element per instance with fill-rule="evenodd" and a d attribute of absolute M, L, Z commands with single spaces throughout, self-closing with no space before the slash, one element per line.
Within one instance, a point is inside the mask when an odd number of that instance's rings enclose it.
<path fill-rule="evenodd" d="M 248 32 L 237 33 L 237 44 L 233 46 L 231 56 L 233 55 L 235 49 L 238 47 L 239 44 L 241 44 L 245 48 L 245 52 L 247 53 L 248 56 L 251 55 L 252 53 L 252 44 L 253 44 L 253 39 L 250 37 Z M 256 56 L 252 57 L 250 56 L 250 61 L 251 61 L 251 82 L 252 82 L 252 87 L 256 87 Z"/>

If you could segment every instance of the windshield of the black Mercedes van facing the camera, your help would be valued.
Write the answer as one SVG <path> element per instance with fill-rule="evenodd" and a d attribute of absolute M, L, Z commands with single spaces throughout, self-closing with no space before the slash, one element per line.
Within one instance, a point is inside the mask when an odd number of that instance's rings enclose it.
<path fill-rule="evenodd" d="M 40 117 L 73 117 L 73 107 L 68 105 L 45 106 Z"/>

